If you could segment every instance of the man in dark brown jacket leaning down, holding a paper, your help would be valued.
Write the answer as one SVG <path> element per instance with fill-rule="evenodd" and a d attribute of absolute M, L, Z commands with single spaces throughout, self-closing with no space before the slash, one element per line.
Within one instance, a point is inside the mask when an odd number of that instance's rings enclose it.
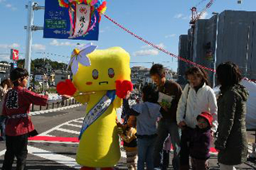
<path fill-rule="evenodd" d="M 150 77 L 154 83 L 158 85 L 159 93 L 166 94 L 173 98 L 170 105 L 162 105 L 160 103 L 164 109 L 161 109 L 162 118 L 158 122 L 158 138 L 154 146 L 154 168 L 160 168 L 163 143 L 166 140 L 168 134 L 170 134 L 170 140 L 174 148 L 174 159 L 172 164 L 174 170 L 178 170 L 181 131 L 178 128 L 176 122 L 176 111 L 178 101 L 182 96 L 182 88 L 180 85 L 178 85 L 178 83 L 174 81 L 166 81 L 166 73 L 162 65 L 153 65 L 150 69 Z M 169 156 L 169 153 L 166 156 Z M 162 169 L 166 168 L 167 167 L 163 167 Z"/>

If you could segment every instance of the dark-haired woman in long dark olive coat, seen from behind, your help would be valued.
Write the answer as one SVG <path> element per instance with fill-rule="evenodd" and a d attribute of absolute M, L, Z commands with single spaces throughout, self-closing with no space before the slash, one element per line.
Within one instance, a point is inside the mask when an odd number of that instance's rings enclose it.
<path fill-rule="evenodd" d="M 242 80 L 238 65 L 226 62 L 218 65 L 218 162 L 221 170 L 235 169 L 234 165 L 246 161 L 246 101 L 248 93 L 239 82 Z"/>

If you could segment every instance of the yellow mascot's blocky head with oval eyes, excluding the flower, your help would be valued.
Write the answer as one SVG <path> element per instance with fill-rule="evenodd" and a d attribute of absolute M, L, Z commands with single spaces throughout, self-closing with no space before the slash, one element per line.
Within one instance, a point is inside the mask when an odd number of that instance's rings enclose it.
<path fill-rule="evenodd" d="M 90 66 L 78 65 L 73 82 L 79 92 L 115 89 L 115 81 L 130 81 L 130 55 L 120 47 L 98 49 L 87 55 Z"/>

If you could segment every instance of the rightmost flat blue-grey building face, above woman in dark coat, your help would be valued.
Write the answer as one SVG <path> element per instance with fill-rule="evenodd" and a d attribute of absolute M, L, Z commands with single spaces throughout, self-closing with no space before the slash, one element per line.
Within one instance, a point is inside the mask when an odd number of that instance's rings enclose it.
<path fill-rule="evenodd" d="M 233 61 L 256 78 L 256 12 L 225 10 L 218 18 L 217 65 Z"/>

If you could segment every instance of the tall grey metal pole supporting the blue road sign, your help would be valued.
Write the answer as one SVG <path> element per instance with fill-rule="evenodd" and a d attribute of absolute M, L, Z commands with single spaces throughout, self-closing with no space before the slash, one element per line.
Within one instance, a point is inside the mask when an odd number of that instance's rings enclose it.
<path fill-rule="evenodd" d="M 31 49 L 32 49 L 32 26 L 34 22 L 34 2 L 28 2 L 28 13 L 27 13 L 27 29 L 26 29 L 26 55 L 25 55 L 25 69 L 30 75 L 30 64 L 31 64 Z M 27 87 L 30 86 L 30 79 L 27 81 Z"/>

